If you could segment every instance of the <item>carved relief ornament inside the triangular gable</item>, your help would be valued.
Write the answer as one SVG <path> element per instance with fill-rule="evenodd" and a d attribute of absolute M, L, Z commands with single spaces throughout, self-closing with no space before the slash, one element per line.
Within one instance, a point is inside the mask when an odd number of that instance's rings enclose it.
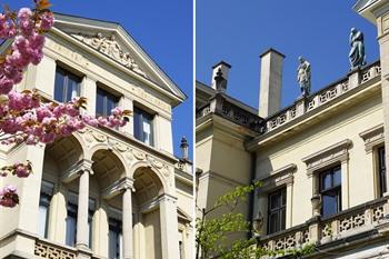
<path fill-rule="evenodd" d="M 141 70 L 138 63 L 133 60 L 131 54 L 128 51 L 124 51 L 122 47 L 116 40 L 114 34 L 107 38 L 103 37 L 101 32 L 98 32 L 96 36 L 86 36 L 86 34 L 72 34 L 74 38 L 87 43 L 99 52 L 107 54 L 114 61 L 121 63 L 126 68 L 129 68 L 133 72 L 148 78 L 148 76 Z"/>

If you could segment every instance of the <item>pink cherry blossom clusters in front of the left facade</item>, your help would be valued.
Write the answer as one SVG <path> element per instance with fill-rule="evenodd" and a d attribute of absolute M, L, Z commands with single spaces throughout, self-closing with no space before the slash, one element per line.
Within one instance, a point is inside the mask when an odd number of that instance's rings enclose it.
<path fill-rule="evenodd" d="M 39 4 L 39 1 L 37 2 Z M 0 61 L 0 142 L 3 145 L 50 143 L 84 128 L 118 128 L 127 123 L 129 111 L 114 108 L 108 118 L 81 114 L 84 98 L 66 103 L 42 102 L 37 91 L 13 89 L 21 82 L 23 70 L 38 64 L 43 58 L 44 33 L 53 26 L 53 13 L 47 7 L 22 8 L 18 14 L 0 13 L 0 39 L 12 39 L 10 51 Z M 32 173 L 31 163 L 16 162 L 0 168 L 0 177 L 9 175 L 27 178 Z M 13 186 L 0 189 L 0 206 L 14 207 L 19 196 Z"/>

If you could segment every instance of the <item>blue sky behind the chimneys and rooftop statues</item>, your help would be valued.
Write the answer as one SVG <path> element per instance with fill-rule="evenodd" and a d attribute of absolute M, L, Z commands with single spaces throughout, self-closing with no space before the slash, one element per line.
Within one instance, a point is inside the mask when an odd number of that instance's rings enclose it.
<path fill-rule="evenodd" d="M 197 0 L 196 77 L 210 83 L 211 67 L 232 66 L 227 92 L 258 108 L 259 54 L 268 48 L 285 53 L 282 107 L 300 94 L 298 57 L 312 67 L 312 91 L 349 71 L 350 28 L 365 33 L 368 62 L 378 59 L 377 29 L 358 16 L 352 1 Z"/>

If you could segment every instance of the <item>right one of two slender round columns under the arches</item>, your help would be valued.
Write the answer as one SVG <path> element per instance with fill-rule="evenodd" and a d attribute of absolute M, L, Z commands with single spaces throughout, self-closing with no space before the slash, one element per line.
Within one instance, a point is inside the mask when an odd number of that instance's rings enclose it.
<path fill-rule="evenodd" d="M 132 235 L 132 185 L 123 187 L 122 205 L 122 231 L 123 231 L 123 259 L 133 259 Z"/>

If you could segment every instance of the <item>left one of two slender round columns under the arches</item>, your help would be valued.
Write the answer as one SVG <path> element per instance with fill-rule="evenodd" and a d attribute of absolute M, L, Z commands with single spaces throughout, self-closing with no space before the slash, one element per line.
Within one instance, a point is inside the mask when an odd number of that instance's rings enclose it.
<path fill-rule="evenodd" d="M 78 211 L 77 211 L 77 248 L 89 248 L 89 227 L 88 227 L 88 205 L 89 205 L 89 170 L 80 172 Z"/>

